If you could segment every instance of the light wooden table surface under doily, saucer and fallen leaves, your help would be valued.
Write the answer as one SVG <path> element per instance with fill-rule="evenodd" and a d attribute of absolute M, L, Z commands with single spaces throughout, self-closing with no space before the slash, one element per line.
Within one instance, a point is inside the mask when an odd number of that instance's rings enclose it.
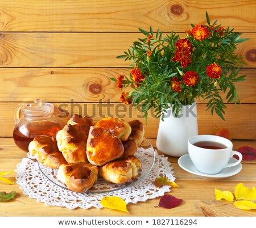
<path fill-rule="evenodd" d="M 155 138 L 149 139 L 155 147 Z M 233 140 L 234 149 L 240 146 L 256 147 L 255 141 Z M 158 151 L 159 153 L 159 151 Z M 0 138 L 0 172 L 15 170 L 26 153 L 15 146 L 13 138 Z M 215 200 L 214 188 L 222 191 L 234 192 L 238 183 L 246 187 L 256 187 L 256 160 L 243 161 L 242 170 L 237 175 L 221 180 L 205 180 L 184 171 L 177 164 L 177 158 L 169 157 L 174 168 L 175 182 L 180 185 L 171 188 L 168 194 L 183 199 L 181 205 L 173 209 L 155 208 L 160 197 L 137 204 L 128 204 L 128 213 L 112 209 L 67 209 L 58 206 L 47 206 L 43 202 L 30 199 L 22 193 L 18 184 L 7 185 L 0 182 L 0 191 L 16 191 L 16 199 L 0 202 L 0 216 L 250 216 L 256 217 L 256 210 L 246 211 L 236 208 L 233 204 Z M 15 182 L 15 174 L 10 174 L 9 179 Z"/>

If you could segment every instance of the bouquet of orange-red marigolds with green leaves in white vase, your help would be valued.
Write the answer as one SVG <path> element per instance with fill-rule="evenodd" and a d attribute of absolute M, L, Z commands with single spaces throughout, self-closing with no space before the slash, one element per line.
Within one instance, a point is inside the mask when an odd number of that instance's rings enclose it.
<path fill-rule="evenodd" d="M 244 63 L 234 50 L 247 39 L 240 39 L 241 33 L 222 27 L 217 20 L 211 24 L 207 12 L 206 17 L 207 24 L 192 24 L 184 39 L 174 32 L 164 37 L 159 29 L 139 28 L 146 37 L 117 57 L 132 60 L 129 77 L 110 78 L 119 88 L 133 88 L 130 93 L 122 92 L 123 103 L 140 105 L 147 118 L 150 108 L 155 117 L 163 117 L 170 107 L 177 116 L 183 105 L 205 99 L 207 109 L 221 119 L 226 106 L 220 91 L 226 93 L 228 103 L 240 103 L 235 83 L 244 81 L 246 75 L 238 76 Z"/>

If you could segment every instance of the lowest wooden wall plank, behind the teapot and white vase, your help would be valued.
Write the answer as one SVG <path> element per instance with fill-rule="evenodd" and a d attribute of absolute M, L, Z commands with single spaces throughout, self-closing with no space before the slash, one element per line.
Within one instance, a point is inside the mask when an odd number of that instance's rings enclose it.
<path fill-rule="evenodd" d="M 158 132 L 159 119 L 153 117 L 153 113 L 149 113 L 147 125 L 141 112 L 134 107 L 124 104 L 108 104 L 108 103 L 54 103 L 56 107 L 61 107 L 63 111 L 59 112 L 60 120 L 65 125 L 69 116 L 65 116 L 67 112 L 80 113 L 81 115 L 90 116 L 94 121 L 98 121 L 105 116 L 118 117 L 127 121 L 133 119 L 141 120 L 145 125 L 145 136 L 148 138 L 156 138 Z M 1 102 L 0 103 L 0 137 L 13 136 L 14 120 L 13 111 L 18 103 Z M 210 115 L 205 112 L 205 104 L 197 105 L 197 116 L 200 134 L 214 134 L 216 126 L 218 128 L 228 128 L 232 132 L 234 139 L 256 139 L 256 104 L 242 104 L 241 108 L 234 104 L 227 104 L 225 110 L 225 119 L 223 121 L 217 115 Z M 250 119 L 250 121 L 248 121 Z"/>

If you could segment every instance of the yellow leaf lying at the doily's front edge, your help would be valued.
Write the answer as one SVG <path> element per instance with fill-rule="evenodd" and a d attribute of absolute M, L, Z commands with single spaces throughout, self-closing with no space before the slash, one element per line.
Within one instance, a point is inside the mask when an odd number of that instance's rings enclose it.
<path fill-rule="evenodd" d="M 128 212 L 126 208 L 126 203 L 123 199 L 117 196 L 106 196 L 103 197 L 101 200 L 101 205 L 104 206 L 104 208 L 110 208 L 115 210 L 121 210 L 122 212 Z"/>

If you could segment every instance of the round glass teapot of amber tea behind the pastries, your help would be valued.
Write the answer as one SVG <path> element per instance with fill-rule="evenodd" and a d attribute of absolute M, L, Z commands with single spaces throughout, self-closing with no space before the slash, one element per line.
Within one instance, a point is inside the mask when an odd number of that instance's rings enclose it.
<path fill-rule="evenodd" d="M 16 145 L 28 151 L 35 136 L 55 136 L 62 129 L 59 119 L 53 115 L 54 106 L 37 99 L 32 104 L 20 104 L 14 109 L 15 128 L 13 138 Z"/>

